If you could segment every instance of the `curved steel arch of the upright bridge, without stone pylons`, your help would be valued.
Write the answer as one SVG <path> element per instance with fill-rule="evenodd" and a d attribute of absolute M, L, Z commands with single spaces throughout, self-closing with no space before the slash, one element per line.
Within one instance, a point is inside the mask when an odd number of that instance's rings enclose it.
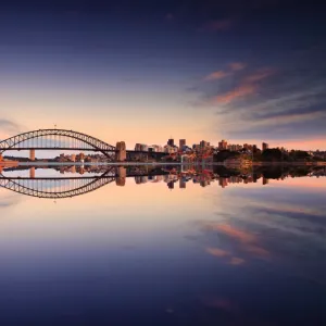
<path fill-rule="evenodd" d="M 28 148 L 24 148 L 22 143 L 26 142 L 30 139 L 38 139 L 42 137 L 63 137 L 63 138 L 71 138 L 82 143 L 88 145 L 93 151 L 102 152 L 108 159 L 111 161 L 115 158 L 116 148 L 112 145 L 109 145 L 98 138 L 91 137 L 89 135 L 74 131 L 74 130 L 66 130 L 66 129 L 39 129 L 39 130 L 32 130 L 28 133 L 20 134 L 8 139 L 0 141 L 0 154 L 8 150 L 24 150 L 24 149 L 32 149 L 34 148 L 33 143 L 28 146 Z M 35 146 L 35 149 L 38 147 Z M 60 147 L 50 147 L 49 149 L 60 150 Z M 71 148 L 74 149 L 74 148 Z"/>

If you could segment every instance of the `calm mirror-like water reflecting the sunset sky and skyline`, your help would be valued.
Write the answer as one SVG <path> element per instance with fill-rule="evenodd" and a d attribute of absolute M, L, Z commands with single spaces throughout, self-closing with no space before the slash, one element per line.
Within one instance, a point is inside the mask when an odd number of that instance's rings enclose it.
<path fill-rule="evenodd" d="M 325 170 L 22 168 L 0 178 L 1 325 L 326 325 Z"/>

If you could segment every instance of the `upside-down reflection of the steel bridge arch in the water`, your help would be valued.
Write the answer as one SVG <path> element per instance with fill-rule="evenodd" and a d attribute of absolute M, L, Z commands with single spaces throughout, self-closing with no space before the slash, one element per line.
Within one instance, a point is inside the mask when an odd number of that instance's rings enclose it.
<path fill-rule="evenodd" d="M 116 179 L 114 168 L 101 176 L 75 178 L 18 178 L 0 175 L 0 187 L 21 195 L 47 199 L 72 198 L 95 191 Z"/>

